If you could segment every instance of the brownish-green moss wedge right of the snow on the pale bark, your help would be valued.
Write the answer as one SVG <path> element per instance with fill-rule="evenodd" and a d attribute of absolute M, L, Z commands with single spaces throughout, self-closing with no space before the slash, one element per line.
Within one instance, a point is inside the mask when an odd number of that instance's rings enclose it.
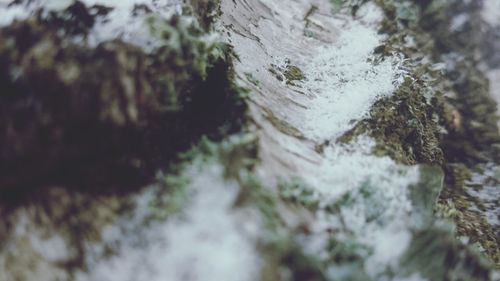
<path fill-rule="evenodd" d="M 404 164 L 441 164 L 443 152 L 435 121 L 437 99 L 428 100 L 425 97 L 428 90 L 416 69 L 394 95 L 377 101 L 370 110 L 370 117 L 338 141 L 349 142 L 360 134 L 368 133 L 377 141 L 373 151 L 375 155 L 389 155 Z"/>

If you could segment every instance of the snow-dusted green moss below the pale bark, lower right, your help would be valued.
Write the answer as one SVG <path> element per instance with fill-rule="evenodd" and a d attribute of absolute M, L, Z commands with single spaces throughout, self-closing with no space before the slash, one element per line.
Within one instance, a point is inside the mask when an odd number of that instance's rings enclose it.
<path fill-rule="evenodd" d="M 348 158 L 337 161 L 353 164 L 353 159 Z M 348 191 L 336 199 L 329 193 L 335 193 L 333 189 L 340 186 L 332 185 L 331 191 L 320 190 L 299 180 L 280 185 L 286 202 L 314 213 L 314 222 L 298 234 L 298 240 L 306 253 L 317 259 L 326 280 L 406 280 L 424 274 L 425 266 L 407 267 L 400 261 L 406 255 L 412 261 L 439 261 L 434 254 L 424 258 L 409 251 L 417 243 L 415 233 L 434 229 L 432 210 L 442 188 L 441 170 L 431 166 L 398 166 L 387 157 L 374 156 L 364 161 L 371 166 L 394 165 L 395 171 L 388 178 L 375 172 L 357 175 L 364 181 L 359 186 L 344 187 Z M 384 170 L 387 167 L 381 168 Z M 484 270 L 488 273 L 487 267 Z"/>

